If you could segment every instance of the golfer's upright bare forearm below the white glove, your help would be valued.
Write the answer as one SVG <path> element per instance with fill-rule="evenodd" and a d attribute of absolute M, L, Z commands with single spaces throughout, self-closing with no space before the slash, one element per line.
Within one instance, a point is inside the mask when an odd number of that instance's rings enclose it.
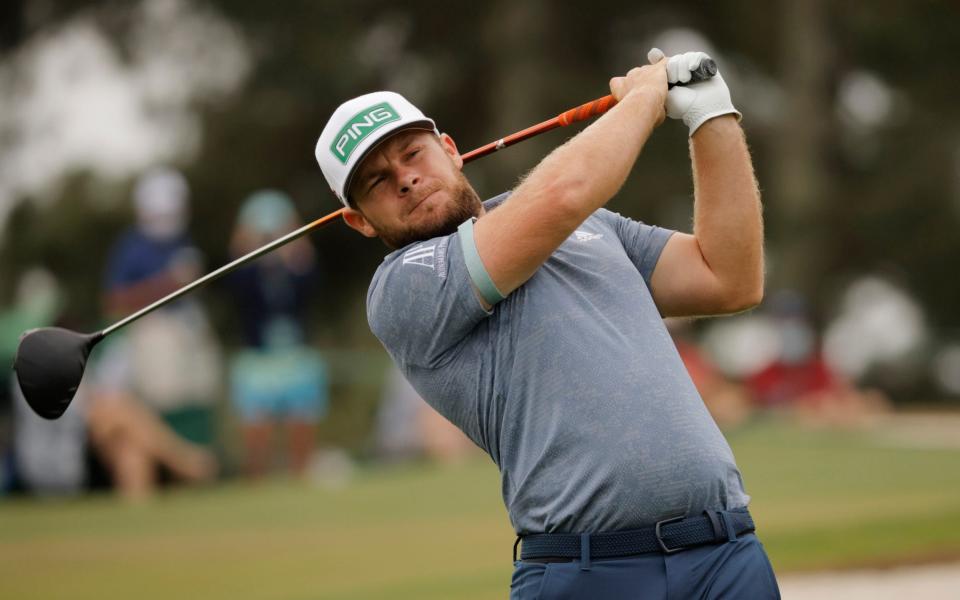
<path fill-rule="evenodd" d="M 763 296 L 763 216 L 743 131 L 733 116 L 704 123 L 691 138 L 694 235 L 735 305 Z"/>

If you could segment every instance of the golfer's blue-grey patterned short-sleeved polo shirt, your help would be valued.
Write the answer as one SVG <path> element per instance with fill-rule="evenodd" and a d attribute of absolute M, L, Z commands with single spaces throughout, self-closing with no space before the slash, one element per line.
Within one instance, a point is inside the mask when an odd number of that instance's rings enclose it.
<path fill-rule="evenodd" d="M 747 505 L 650 294 L 672 233 L 598 210 L 491 311 L 459 233 L 377 269 L 371 329 L 424 399 L 490 454 L 518 534 L 634 529 Z"/>

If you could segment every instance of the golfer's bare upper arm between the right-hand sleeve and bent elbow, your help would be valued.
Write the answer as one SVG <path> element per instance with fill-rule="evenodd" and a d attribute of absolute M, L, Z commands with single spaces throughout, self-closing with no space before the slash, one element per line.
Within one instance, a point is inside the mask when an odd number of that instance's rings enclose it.
<path fill-rule="evenodd" d="M 664 317 L 713 315 L 724 312 L 723 290 L 688 233 L 670 236 L 650 278 L 653 300 Z"/>

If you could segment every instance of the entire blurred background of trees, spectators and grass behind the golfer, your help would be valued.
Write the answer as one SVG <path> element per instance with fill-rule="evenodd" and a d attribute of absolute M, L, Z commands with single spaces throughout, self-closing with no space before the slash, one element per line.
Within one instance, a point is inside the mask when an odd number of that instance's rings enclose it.
<path fill-rule="evenodd" d="M 605 95 L 652 46 L 705 50 L 744 115 L 767 290 L 669 327 L 784 590 L 917 563 L 949 578 L 958 19 L 938 1 L 7 0 L 0 354 L 336 210 L 313 146 L 347 98 L 398 91 L 466 151 Z M 685 131 L 657 131 L 612 209 L 690 230 Z M 574 133 L 467 175 L 493 196 Z M 0 372 L 0 596 L 504 597 L 494 466 L 367 328 L 385 254 L 334 224 L 159 311 L 98 347 L 57 422 Z"/>

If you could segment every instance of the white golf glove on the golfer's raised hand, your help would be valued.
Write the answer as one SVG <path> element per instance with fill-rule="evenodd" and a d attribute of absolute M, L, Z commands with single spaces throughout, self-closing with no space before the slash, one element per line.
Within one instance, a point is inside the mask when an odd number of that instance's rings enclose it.
<path fill-rule="evenodd" d="M 659 48 L 647 53 L 647 60 L 655 63 L 666 56 Z M 700 66 L 700 61 L 710 58 L 705 52 L 686 52 L 675 54 L 667 60 L 667 82 L 686 83 L 690 74 Z M 707 79 L 689 85 L 675 85 L 667 92 L 667 116 L 681 119 L 690 128 L 690 135 L 709 119 L 720 115 L 736 115 L 739 121 L 742 115 L 733 107 L 730 90 L 720 76 L 720 72 Z"/>

